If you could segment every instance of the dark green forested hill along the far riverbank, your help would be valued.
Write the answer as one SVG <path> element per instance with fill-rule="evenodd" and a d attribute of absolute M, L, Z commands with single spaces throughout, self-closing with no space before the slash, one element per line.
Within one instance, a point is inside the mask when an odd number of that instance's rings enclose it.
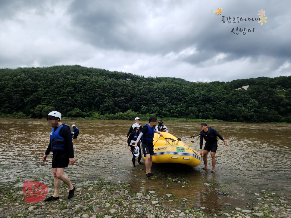
<path fill-rule="evenodd" d="M 244 85 L 248 90 L 236 90 Z M 32 67 L 0 69 L 0 94 L 2 118 L 42 118 L 57 110 L 64 117 L 96 119 L 133 119 L 138 113 L 291 122 L 291 76 L 203 83 L 79 65 Z"/>

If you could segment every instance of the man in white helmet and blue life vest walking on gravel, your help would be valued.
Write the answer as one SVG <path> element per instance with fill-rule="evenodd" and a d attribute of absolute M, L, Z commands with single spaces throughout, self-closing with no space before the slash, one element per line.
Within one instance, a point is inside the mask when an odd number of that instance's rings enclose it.
<path fill-rule="evenodd" d="M 52 111 L 47 117 L 48 123 L 52 124 L 52 130 L 50 133 L 50 143 L 46 149 L 45 155 L 42 157 L 42 161 L 45 162 L 47 156 L 52 151 L 52 168 L 54 172 L 55 193 L 46 198 L 45 201 L 52 201 L 59 199 L 59 190 L 61 181 L 67 184 L 69 187 L 68 199 L 74 196 L 75 187 L 72 185 L 70 179 L 64 175 L 64 170 L 71 165 L 75 164 L 74 148 L 71 138 L 71 129 L 67 124 L 61 123 L 61 113 Z"/>

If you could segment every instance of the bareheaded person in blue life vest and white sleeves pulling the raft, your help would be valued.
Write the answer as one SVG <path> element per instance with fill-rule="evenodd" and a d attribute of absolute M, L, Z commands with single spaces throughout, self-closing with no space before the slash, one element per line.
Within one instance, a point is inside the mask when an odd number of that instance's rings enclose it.
<path fill-rule="evenodd" d="M 149 118 L 149 124 L 146 124 L 142 127 L 142 130 L 139 134 L 139 137 L 136 139 L 136 143 L 134 147 L 137 146 L 138 141 L 142 137 L 142 151 L 143 155 L 146 157 L 146 177 L 154 176 L 154 174 L 151 173 L 152 168 L 152 155 L 154 155 L 154 144 L 152 143 L 154 141 L 154 134 L 158 133 L 162 137 L 163 134 L 161 132 L 158 132 L 155 130 L 155 125 L 157 124 L 157 118 L 150 117 Z"/>

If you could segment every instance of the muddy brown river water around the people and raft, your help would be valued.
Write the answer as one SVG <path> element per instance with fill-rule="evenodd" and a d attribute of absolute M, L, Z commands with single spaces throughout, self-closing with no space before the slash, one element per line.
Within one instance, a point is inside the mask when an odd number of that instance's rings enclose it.
<path fill-rule="evenodd" d="M 125 142 L 132 121 L 63 122 L 70 126 L 75 124 L 80 130 L 78 139 L 73 140 L 76 164 L 65 170 L 72 181 L 93 177 L 127 181 L 134 184 L 134 191 L 154 189 L 161 194 L 173 193 L 177 198 L 196 199 L 197 206 L 211 204 L 211 201 L 218 205 L 233 201 L 245 205 L 253 192 L 261 190 L 291 193 L 291 125 L 209 123 L 227 142 L 225 147 L 219 140 L 214 175 L 210 173 L 208 155 L 207 171 L 202 169 L 203 161 L 197 167 L 153 164 L 152 172 L 158 177 L 151 180 L 146 179 L 144 164 L 132 167 L 132 155 Z M 165 125 L 183 142 L 201 130 L 195 122 L 165 122 Z M 0 119 L 0 183 L 17 178 L 51 181 L 52 155 L 42 163 L 51 128 L 44 119 Z M 195 144 L 192 148 L 199 151 L 199 141 Z M 23 172 L 16 173 L 19 169 Z M 173 183 L 170 178 L 182 183 Z M 220 187 L 221 192 L 228 195 L 214 194 L 208 187 L 201 186 L 205 182 Z"/>

